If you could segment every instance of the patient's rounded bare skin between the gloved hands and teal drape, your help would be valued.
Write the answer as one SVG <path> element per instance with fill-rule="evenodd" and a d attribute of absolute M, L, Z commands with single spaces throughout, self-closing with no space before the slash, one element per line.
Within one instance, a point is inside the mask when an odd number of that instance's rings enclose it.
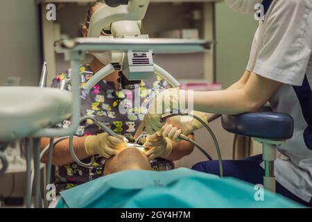
<path fill-rule="evenodd" d="M 106 160 L 103 174 L 107 175 L 131 169 L 152 170 L 144 151 L 137 148 L 126 148 L 121 153 Z"/>

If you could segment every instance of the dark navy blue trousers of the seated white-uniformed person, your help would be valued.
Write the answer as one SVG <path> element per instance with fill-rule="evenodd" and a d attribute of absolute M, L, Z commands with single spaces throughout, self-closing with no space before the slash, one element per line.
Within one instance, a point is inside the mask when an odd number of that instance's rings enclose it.
<path fill-rule="evenodd" d="M 256 155 L 244 160 L 223 160 L 223 175 L 244 180 L 254 185 L 262 184 L 264 175 L 264 170 L 260 166 L 262 161 L 262 155 Z M 219 165 L 217 160 L 199 162 L 198 164 L 195 164 L 192 169 L 204 173 L 219 175 Z M 276 183 L 276 192 L 286 196 L 286 198 L 295 200 L 302 205 L 312 207 L 312 199 L 309 203 L 306 203 L 278 182 Z"/>

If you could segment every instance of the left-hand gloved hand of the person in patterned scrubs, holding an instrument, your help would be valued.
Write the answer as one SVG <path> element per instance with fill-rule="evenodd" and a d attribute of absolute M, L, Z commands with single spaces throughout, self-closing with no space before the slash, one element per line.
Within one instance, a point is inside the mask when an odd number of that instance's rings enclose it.
<path fill-rule="evenodd" d="M 88 155 L 101 155 L 110 158 L 127 148 L 122 139 L 112 137 L 108 133 L 89 136 L 85 139 L 85 151 Z"/>

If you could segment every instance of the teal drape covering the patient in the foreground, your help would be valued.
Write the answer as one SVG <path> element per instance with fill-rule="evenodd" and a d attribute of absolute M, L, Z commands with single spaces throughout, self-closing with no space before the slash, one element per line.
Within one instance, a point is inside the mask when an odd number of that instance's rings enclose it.
<path fill-rule="evenodd" d="M 130 166 L 148 168 L 144 162 Z M 260 200 L 261 194 L 255 195 L 254 185 L 246 182 L 191 169 L 128 170 L 62 191 L 62 198 L 54 204 L 59 208 L 300 207 L 268 191 L 263 195 Z"/>

